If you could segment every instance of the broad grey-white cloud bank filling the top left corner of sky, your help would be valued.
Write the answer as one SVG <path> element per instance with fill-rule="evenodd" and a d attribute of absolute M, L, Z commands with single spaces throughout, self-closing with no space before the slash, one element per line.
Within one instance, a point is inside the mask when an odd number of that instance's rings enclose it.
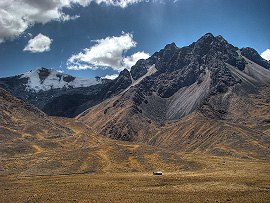
<path fill-rule="evenodd" d="M 141 1 L 144 0 L 0 0 L 0 43 L 13 40 L 35 23 L 78 18 L 79 15 L 70 16 L 63 12 L 63 8 L 72 9 L 73 5 L 86 7 L 96 2 L 125 8 Z"/>

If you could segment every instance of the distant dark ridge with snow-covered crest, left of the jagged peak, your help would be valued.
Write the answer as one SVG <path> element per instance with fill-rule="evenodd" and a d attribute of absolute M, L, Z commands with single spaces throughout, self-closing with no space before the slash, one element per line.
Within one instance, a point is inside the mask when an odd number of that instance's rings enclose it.
<path fill-rule="evenodd" d="M 117 79 L 108 80 L 100 77 L 76 78 L 52 69 L 37 68 L 17 76 L 0 78 L 0 87 L 48 115 L 74 117 L 127 88 L 131 79 L 126 71 L 122 71 Z"/>

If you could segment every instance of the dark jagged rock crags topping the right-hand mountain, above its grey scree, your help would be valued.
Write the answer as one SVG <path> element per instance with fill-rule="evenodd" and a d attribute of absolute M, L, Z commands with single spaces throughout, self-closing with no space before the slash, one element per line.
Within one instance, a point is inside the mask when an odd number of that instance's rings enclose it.
<path fill-rule="evenodd" d="M 245 61 L 237 50 L 223 37 L 208 33 L 187 47 L 178 48 L 174 43 L 166 45 L 149 59 L 140 60 L 131 68 L 131 73 L 136 79 L 146 72 L 146 66 L 155 64 L 158 71 L 143 81 L 139 89 L 148 94 L 156 92 L 162 98 L 169 98 L 180 88 L 195 83 L 206 70 L 212 73 L 211 91 L 226 92 L 228 86 L 240 82 L 232 76 L 226 63 L 239 70 L 245 67 Z"/>

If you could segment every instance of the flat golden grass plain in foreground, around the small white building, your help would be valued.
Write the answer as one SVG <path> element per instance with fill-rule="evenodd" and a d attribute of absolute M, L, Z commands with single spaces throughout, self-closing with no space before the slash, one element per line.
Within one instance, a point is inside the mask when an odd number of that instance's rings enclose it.
<path fill-rule="evenodd" d="M 197 171 L 2 177 L 2 202 L 269 202 L 270 163 L 185 154 Z"/>

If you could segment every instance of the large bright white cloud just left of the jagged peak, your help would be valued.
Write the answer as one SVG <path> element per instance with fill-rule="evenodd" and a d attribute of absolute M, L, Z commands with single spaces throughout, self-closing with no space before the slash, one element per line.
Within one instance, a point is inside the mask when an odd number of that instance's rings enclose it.
<path fill-rule="evenodd" d="M 135 47 L 136 42 L 130 33 L 122 33 L 119 37 L 106 37 L 105 39 L 95 40 L 96 44 L 90 48 L 85 48 L 83 52 L 72 55 L 68 61 L 68 69 L 97 69 L 111 67 L 116 71 L 136 63 L 140 57 L 148 58 L 149 55 L 144 52 L 138 52 L 125 58 L 124 53 Z M 145 57 L 145 56 L 148 57 Z"/>

